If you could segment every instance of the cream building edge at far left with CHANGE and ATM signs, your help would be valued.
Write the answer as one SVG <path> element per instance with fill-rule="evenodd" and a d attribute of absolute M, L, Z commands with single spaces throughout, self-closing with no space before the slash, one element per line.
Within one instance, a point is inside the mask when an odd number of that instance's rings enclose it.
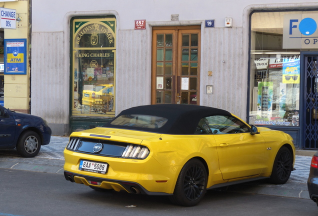
<path fill-rule="evenodd" d="M 3 8 L 0 28 L 0 105 L 27 113 L 30 110 L 30 1 L 0 0 L 0 7 Z"/>

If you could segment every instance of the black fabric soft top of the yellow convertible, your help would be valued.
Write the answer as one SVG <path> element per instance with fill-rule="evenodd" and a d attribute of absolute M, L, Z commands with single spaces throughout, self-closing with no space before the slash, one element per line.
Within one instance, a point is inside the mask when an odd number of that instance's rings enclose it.
<path fill-rule="evenodd" d="M 143 114 L 165 117 L 168 121 L 160 128 L 131 127 L 124 125 L 112 125 L 111 121 L 104 127 L 138 129 L 142 131 L 166 133 L 166 134 L 193 134 L 199 120 L 212 115 L 232 116 L 223 109 L 188 104 L 154 104 L 135 106 L 121 111 L 120 115 Z M 113 119 L 113 120 L 114 120 Z"/>

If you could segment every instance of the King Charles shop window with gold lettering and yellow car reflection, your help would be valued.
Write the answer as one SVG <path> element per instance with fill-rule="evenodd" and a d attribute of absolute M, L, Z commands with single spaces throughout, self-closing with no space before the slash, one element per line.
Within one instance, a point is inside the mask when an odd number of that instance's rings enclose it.
<path fill-rule="evenodd" d="M 72 116 L 114 117 L 115 18 L 72 20 Z"/>

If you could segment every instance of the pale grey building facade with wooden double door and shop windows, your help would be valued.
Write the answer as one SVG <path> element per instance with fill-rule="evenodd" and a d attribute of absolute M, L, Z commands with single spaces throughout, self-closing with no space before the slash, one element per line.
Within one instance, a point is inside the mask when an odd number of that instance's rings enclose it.
<path fill-rule="evenodd" d="M 31 11 L 30 112 L 55 135 L 187 103 L 318 148 L 313 0 L 32 0 Z"/>

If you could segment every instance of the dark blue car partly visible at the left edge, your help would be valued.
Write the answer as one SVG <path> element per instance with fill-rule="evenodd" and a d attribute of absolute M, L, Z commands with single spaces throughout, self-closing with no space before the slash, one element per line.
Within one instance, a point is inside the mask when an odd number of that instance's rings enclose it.
<path fill-rule="evenodd" d="M 51 128 L 43 118 L 0 105 L 0 149 L 16 148 L 22 157 L 34 157 L 50 138 Z"/>

